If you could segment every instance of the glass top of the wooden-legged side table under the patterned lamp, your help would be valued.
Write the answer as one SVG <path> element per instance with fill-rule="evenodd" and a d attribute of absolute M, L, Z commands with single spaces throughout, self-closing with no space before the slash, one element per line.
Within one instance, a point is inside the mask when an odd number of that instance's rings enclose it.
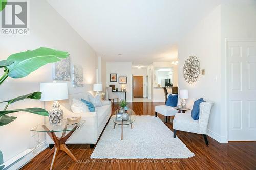
<path fill-rule="evenodd" d="M 72 131 L 72 130 L 76 130 L 79 127 L 81 127 L 84 124 L 84 122 L 86 122 L 86 121 L 85 120 L 80 120 L 79 123 L 74 124 L 74 125 L 66 125 L 65 122 L 66 122 L 66 120 L 62 120 L 61 125 L 53 125 L 53 124 L 50 124 L 49 120 L 47 120 L 46 123 L 39 124 L 39 125 L 33 127 L 30 130 L 31 131 L 36 131 L 36 132 L 64 132 L 64 131 Z"/>

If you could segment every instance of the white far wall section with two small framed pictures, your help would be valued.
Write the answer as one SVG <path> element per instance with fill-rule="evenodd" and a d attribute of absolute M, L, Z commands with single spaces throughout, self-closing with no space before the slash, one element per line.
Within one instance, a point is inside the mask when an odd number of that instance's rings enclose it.
<path fill-rule="evenodd" d="M 117 82 L 110 82 L 110 74 L 117 74 Z M 119 84 L 118 77 L 127 76 L 127 84 Z M 106 86 L 115 85 L 118 90 L 121 90 L 121 86 L 124 85 L 126 93 L 126 101 L 132 101 L 132 62 L 107 62 L 106 63 Z M 124 93 L 115 93 L 119 96 L 119 101 L 124 99 Z"/>

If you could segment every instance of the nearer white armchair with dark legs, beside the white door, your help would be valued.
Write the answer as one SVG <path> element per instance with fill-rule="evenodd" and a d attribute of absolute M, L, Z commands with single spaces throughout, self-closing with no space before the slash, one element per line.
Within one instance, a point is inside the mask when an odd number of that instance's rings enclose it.
<path fill-rule="evenodd" d="M 212 102 L 202 102 L 199 106 L 199 119 L 194 120 L 189 113 L 176 113 L 173 122 L 174 138 L 176 131 L 185 131 L 197 134 L 203 134 L 206 145 L 207 140 L 207 126 L 210 116 L 211 107 L 214 105 Z"/>

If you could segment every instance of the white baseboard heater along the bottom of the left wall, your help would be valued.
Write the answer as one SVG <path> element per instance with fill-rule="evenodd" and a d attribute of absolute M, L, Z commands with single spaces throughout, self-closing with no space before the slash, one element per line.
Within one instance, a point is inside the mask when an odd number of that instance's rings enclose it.
<path fill-rule="evenodd" d="M 49 147 L 49 144 L 46 144 L 46 141 L 43 141 L 40 144 L 38 144 L 35 148 L 27 149 L 22 153 L 19 153 L 18 155 L 4 162 L 2 165 L 5 165 L 4 169 L 8 170 L 20 169 L 24 165 L 26 165 L 31 159 L 33 159 L 36 155 L 44 151 L 47 147 Z"/>

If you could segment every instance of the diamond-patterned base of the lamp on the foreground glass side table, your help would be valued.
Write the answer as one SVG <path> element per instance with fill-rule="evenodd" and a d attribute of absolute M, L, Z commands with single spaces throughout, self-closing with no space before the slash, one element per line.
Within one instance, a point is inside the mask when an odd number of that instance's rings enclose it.
<path fill-rule="evenodd" d="M 49 122 L 53 125 L 61 125 L 63 119 L 63 110 L 60 108 L 58 101 L 54 101 L 52 109 L 49 111 Z"/>

